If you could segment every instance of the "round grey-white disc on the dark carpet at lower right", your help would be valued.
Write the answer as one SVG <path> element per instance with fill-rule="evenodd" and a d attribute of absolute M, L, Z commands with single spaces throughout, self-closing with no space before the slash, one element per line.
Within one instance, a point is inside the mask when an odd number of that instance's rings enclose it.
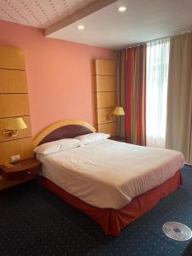
<path fill-rule="evenodd" d="M 186 241 L 192 237 L 189 227 L 179 222 L 166 222 L 162 230 L 166 236 L 177 241 Z"/>

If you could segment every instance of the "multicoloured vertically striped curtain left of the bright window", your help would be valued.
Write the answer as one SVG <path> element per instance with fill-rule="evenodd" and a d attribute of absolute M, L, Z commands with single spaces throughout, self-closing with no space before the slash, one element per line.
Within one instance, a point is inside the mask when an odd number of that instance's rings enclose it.
<path fill-rule="evenodd" d="M 146 44 L 116 53 L 116 90 L 118 105 L 125 109 L 117 135 L 146 145 Z"/>

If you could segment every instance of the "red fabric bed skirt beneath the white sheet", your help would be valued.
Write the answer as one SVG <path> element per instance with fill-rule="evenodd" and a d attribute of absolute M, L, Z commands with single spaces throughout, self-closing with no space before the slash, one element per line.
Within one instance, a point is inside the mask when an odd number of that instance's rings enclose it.
<path fill-rule="evenodd" d="M 161 199 L 175 191 L 179 185 L 183 184 L 183 180 L 180 171 L 177 171 L 165 183 L 149 190 L 143 195 L 135 197 L 131 203 L 119 210 L 93 207 L 78 197 L 70 195 L 46 177 L 38 176 L 38 183 L 44 188 L 49 189 L 55 195 L 58 195 L 63 201 L 66 201 L 73 207 L 79 208 L 80 211 L 89 215 L 90 218 L 95 219 L 106 235 L 118 236 L 120 230 L 141 217 L 145 212 L 148 212 Z"/>

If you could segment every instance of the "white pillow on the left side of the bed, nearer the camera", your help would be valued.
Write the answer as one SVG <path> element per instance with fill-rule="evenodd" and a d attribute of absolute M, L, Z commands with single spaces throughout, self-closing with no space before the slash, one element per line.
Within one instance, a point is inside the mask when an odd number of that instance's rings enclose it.
<path fill-rule="evenodd" d="M 44 143 L 34 149 L 35 153 L 38 154 L 54 154 L 56 152 L 65 151 L 80 146 L 80 141 L 73 138 L 61 139 L 58 141 Z"/>

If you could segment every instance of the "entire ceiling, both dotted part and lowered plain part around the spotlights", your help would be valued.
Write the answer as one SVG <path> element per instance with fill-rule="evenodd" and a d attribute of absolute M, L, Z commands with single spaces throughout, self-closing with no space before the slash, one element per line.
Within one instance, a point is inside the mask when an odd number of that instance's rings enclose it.
<path fill-rule="evenodd" d="M 190 30 L 191 14 L 192 0 L 0 0 L 0 20 L 44 28 L 48 38 L 109 49 Z"/>

